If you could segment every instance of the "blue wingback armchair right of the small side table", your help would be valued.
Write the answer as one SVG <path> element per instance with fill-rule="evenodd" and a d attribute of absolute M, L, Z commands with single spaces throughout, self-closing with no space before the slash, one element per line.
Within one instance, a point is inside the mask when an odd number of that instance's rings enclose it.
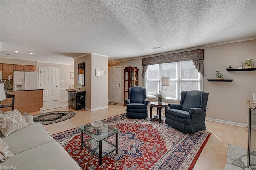
<path fill-rule="evenodd" d="M 209 93 L 192 90 L 180 93 L 180 104 L 169 104 L 166 109 L 165 123 L 184 132 L 206 129 L 205 113 Z"/>

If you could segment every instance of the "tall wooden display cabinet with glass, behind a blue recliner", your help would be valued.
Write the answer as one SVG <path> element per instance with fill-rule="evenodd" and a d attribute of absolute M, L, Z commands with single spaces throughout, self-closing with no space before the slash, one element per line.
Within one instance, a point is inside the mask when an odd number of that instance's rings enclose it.
<path fill-rule="evenodd" d="M 139 85 L 139 69 L 137 67 L 125 67 L 124 69 L 124 106 L 129 97 L 128 89 Z"/>

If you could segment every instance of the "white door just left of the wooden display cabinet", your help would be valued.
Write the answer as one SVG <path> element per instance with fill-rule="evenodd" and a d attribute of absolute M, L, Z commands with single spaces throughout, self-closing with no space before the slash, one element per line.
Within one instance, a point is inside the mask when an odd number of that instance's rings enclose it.
<path fill-rule="evenodd" d="M 110 67 L 110 101 L 121 102 L 121 66 Z"/>

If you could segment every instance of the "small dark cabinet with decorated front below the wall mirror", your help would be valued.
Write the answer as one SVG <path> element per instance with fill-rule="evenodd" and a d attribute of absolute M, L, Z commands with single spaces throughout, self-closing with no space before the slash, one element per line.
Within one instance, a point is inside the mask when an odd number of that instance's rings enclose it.
<path fill-rule="evenodd" d="M 85 109 L 85 91 L 68 91 L 68 108 Z"/>

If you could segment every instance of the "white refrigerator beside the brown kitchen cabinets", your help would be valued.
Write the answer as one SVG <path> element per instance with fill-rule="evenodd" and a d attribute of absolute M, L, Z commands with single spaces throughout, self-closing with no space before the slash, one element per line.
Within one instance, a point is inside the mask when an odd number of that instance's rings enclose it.
<path fill-rule="evenodd" d="M 37 82 L 37 72 L 13 71 L 14 90 L 38 89 Z"/>

